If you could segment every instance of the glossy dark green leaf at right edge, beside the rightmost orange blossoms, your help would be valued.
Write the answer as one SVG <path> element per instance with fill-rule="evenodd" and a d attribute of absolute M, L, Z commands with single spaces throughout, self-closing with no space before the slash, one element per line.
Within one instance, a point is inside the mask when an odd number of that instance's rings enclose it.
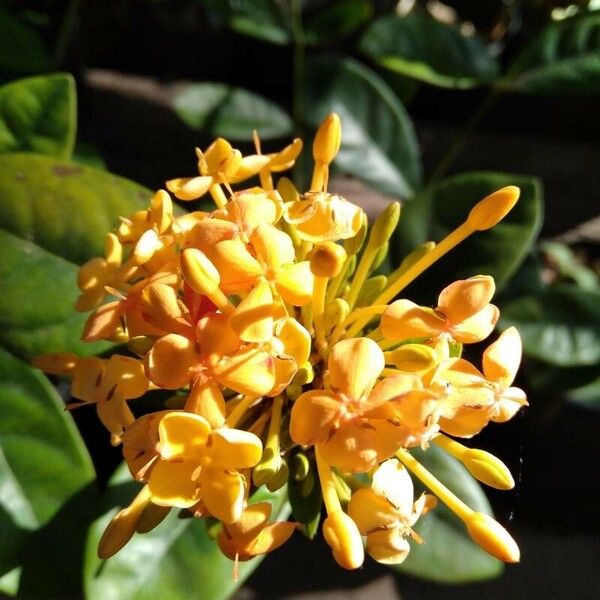
<path fill-rule="evenodd" d="M 561 285 L 504 307 L 499 326 L 514 325 L 525 353 L 560 367 L 600 363 L 600 292 Z"/>

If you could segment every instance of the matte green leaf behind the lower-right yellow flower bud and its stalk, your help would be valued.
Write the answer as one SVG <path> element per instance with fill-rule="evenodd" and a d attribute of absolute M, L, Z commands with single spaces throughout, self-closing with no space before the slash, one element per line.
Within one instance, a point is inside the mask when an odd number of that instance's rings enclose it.
<path fill-rule="evenodd" d="M 436 446 L 411 453 L 473 510 L 491 514 L 481 487 L 457 460 Z M 477 546 L 441 503 L 419 519 L 415 530 L 425 543 L 411 543 L 408 558 L 395 567 L 399 571 L 439 583 L 482 581 L 502 572 L 502 563 Z"/>

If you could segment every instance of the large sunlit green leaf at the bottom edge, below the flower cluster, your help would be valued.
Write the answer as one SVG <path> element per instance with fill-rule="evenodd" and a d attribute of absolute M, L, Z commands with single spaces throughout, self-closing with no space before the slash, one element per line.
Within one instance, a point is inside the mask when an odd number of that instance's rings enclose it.
<path fill-rule="evenodd" d="M 139 490 L 139 484 L 131 482 L 124 469 L 112 484 L 111 499 L 118 505 L 128 504 Z M 273 520 L 287 517 L 285 488 L 274 494 L 261 490 L 252 497 L 252 502 L 262 500 L 273 502 Z M 233 562 L 209 538 L 203 520 L 180 518 L 173 510 L 156 529 L 135 535 L 125 548 L 102 564 L 96 549 L 114 514 L 111 510 L 90 530 L 84 568 L 88 598 L 225 600 L 260 563 L 260 558 L 240 563 L 239 580 L 234 582 Z"/>

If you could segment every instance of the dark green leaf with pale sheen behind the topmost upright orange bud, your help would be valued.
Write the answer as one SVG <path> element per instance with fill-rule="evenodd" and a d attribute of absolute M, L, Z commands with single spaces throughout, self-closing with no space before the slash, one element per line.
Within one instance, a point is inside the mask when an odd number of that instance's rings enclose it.
<path fill-rule="evenodd" d="M 316 128 L 331 111 L 342 121 L 335 165 L 372 187 L 408 199 L 421 182 L 419 147 L 404 107 L 370 69 L 348 58 L 307 60 L 302 106 Z"/>

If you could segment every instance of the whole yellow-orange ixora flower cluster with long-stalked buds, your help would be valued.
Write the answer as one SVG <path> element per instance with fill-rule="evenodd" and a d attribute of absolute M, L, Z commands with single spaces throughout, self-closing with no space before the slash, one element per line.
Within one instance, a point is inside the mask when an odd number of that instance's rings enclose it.
<path fill-rule="evenodd" d="M 451 283 L 434 307 L 400 297 L 454 246 L 498 223 L 519 189 L 487 196 L 446 238 L 376 274 L 400 206 L 369 229 L 360 207 L 328 190 L 340 141 L 331 114 L 301 193 L 280 176 L 301 140 L 263 154 L 255 136 L 255 154 L 243 156 L 218 139 L 197 150 L 197 176 L 166 184 L 180 200 L 209 193 L 215 210 L 177 216 L 158 191 L 107 234 L 104 257 L 81 267 L 76 308 L 92 311 L 83 339 L 125 344 L 127 356 L 56 354 L 35 364 L 72 380 L 73 406 L 96 404 L 142 486 L 106 529 L 102 558 L 175 509 L 218 521 L 222 552 L 249 560 L 308 531 L 298 503 L 316 493 L 327 512 L 323 537 L 347 569 L 362 565 L 365 548 L 382 563 L 402 562 L 424 541 L 415 528 L 437 500 L 489 553 L 519 560 L 504 528 L 411 453 L 434 444 L 483 483 L 514 485 L 499 459 L 455 438 L 527 403 L 513 387 L 519 334 L 508 329 L 488 345 L 481 368 L 461 357 L 463 344 L 488 338 L 498 320 L 494 280 L 484 274 Z M 430 494 L 415 500 L 412 477 Z M 300 522 L 270 522 L 271 504 L 254 493 L 286 484 L 302 486 L 292 502 Z"/>

